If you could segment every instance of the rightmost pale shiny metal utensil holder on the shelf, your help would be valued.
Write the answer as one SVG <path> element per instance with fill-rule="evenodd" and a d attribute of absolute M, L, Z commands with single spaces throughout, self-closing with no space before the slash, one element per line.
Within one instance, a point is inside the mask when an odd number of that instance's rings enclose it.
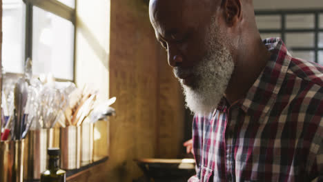
<path fill-rule="evenodd" d="M 93 123 L 81 125 L 81 166 L 93 162 Z"/>

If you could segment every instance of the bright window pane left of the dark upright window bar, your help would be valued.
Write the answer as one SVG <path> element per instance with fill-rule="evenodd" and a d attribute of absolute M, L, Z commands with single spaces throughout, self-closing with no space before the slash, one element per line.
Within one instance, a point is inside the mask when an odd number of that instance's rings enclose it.
<path fill-rule="evenodd" d="M 23 72 L 25 9 L 21 0 L 3 0 L 2 64 L 5 72 Z"/>

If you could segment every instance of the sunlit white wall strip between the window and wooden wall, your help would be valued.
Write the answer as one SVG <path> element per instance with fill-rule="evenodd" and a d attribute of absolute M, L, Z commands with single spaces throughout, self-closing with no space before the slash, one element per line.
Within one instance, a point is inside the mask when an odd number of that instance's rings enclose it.
<path fill-rule="evenodd" d="M 77 0 L 75 82 L 99 90 L 99 99 L 109 92 L 110 0 Z"/>

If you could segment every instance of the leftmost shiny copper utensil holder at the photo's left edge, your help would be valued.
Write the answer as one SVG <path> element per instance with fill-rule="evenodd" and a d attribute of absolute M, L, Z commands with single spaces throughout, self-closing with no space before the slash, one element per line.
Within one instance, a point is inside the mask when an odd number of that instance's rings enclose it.
<path fill-rule="evenodd" d="M 25 140 L 0 142 L 0 181 L 23 182 Z"/>

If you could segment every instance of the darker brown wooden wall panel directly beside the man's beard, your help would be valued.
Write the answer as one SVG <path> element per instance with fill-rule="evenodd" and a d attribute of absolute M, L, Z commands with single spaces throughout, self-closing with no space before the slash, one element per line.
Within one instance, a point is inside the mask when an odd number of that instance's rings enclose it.
<path fill-rule="evenodd" d="M 159 52 L 159 151 L 160 158 L 182 156 L 184 141 L 184 97 L 167 62 L 165 50 Z"/>

